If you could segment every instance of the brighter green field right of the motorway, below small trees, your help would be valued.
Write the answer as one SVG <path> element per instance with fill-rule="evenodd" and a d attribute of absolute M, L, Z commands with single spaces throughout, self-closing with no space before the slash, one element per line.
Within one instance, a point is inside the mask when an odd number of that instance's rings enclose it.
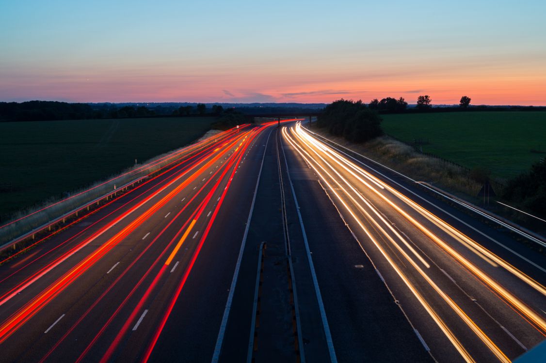
<path fill-rule="evenodd" d="M 508 179 L 546 157 L 546 112 L 385 114 L 383 130 L 402 141 L 428 139 L 423 152 Z"/>

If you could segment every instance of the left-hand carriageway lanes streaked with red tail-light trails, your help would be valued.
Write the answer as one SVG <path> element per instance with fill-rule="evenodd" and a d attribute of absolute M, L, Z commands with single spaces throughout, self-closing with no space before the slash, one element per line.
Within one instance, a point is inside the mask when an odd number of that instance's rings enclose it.
<path fill-rule="evenodd" d="M 276 124 L 225 132 L 2 265 L 1 360 L 147 360 L 257 136 Z"/>

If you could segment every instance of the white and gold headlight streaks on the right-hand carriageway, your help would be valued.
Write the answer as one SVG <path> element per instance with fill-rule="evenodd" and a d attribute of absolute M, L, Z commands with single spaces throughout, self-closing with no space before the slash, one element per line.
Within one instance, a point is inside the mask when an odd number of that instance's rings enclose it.
<path fill-rule="evenodd" d="M 337 153 L 336 150 L 330 148 L 327 144 L 319 142 L 316 138 L 305 132 L 299 123 L 290 129 L 283 128 L 282 134 L 285 140 L 287 140 L 295 151 L 306 161 L 307 165 L 313 169 L 319 178 L 321 178 L 324 185 L 327 187 L 328 192 L 332 192 L 335 195 L 336 200 L 343 205 L 345 210 L 347 210 L 349 215 L 351 215 L 353 220 L 358 224 L 359 228 L 361 228 L 365 235 L 372 241 L 373 245 L 377 247 L 381 255 L 387 260 L 389 265 L 394 269 L 396 274 L 405 283 L 408 289 L 410 289 L 414 297 L 417 298 L 425 311 L 429 314 L 432 320 L 434 320 L 444 335 L 446 335 L 449 341 L 452 342 L 453 346 L 456 350 L 458 350 L 463 359 L 470 362 L 474 361 L 470 353 L 468 353 L 467 349 L 460 342 L 460 339 L 455 336 L 452 329 L 448 327 L 440 315 L 435 311 L 435 307 L 431 306 L 429 302 L 426 301 L 423 294 L 419 292 L 419 288 L 414 286 L 412 278 L 408 277 L 404 271 L 404 268 L 399 267 L 396 259 L 393 259 L 390 256 L 393 252 L 385 250 L 382 243 L 377 240 L 375 233 L 377 233 L 379 237 L 383 239 L 386 238 L 388 241 L 390 241 L 390 245 L 395 247 L 396 251 L 398 251 L 400 254 L 399 256 L 403 256 L 405 261 L 410 263 L 414 271 L 417 271 L 419 276 L 422 277 L 423 281 L 426 281 L 426 283 L 428 283 L 428 285 L 432 288 L 432 291 L 442 298 L 442 300 L 452 309 L 452 311 L 456 313 L 460 320 L 474 332 L 479 340 L 484 343 L 484 345 L 492 354 L 496 356 L 499 361 L 509 361 L 506 354 L 502 352 L 502 350 L 489 338 L 489 336 L 479 328 L 479 326 L 465 313 L 465 311 L 458 304 L 456 304 L 455 301 L 446 292 L 444 292 L 435 281 L 432 280 L 432 277 L 430 277 L 430 275 L 426 273 L 426 271 L 421 268 L 416 261 L 414 261 L 408 252 L 406 252 L 407 249 L 407 251 L 415 256 L 419 262 L 425 266 L 425 268 L 430 267 L 428 262 L 426 262 L 426 260 L 420 256 L 415 249 L 413 249 L 411 244 L 408 243 L 408 241 L 403 238 L 402 235 L 396 231 L 396 229 L 393 228 L 392 223 L 386 220 L 384 215 L 363 196 L 363 193 L 358 190 L 359 187 L 364 187 L 366 190 L 371 191 L 374 195 L 385 202 L 385 205 L 389 205 L 389 207 L 395 210 L 399 215 L 403 216 L 420 232 L 426 235 L 426 237 L 434 241 L 437 246 L 441 247 L 443 251 L 446 251 L 455 261 L 465 267 L 467 271 L 485 283 L 485 285 L 494 291 L 498 297 L 501 297 L 503 302 L 507 302 L 518 313 L 524 316 L 527 322 L 529 322 L 533 327 L 541 332 L 541 334 L 544 335 L 544 331 L 546 331 L 546 323 L 538 313 L 533 311 L 519 298 L 515 297 L 515 295 L 509 292 L 505 287 L 501 286 L 500 283 L 485 274 L 477 267 L 476 264 L 470 262 L 470 260 L 462 256 L 460 252 L 456 251 L 452 246 L 447 244 L 446 241 L 438 237 L 416 218 L 399 207 L 399 205 L 397 205 L 394 200 L 390 198 L 389 194 L 393 195 L 397 200 L 402 201 L 413 210 L 417 211 L 420 215 L 423 215 L 427 220 L 434 223 L 434 225 L 440 227 L 442 231 L 446 232 L 450 237 L 458 240 L 470 251 L 477 253 L 480 258 L 484 259 L 490 265 L 502 266 L 511 274 L 518 277 L 518 279 L 524 281 L 527 283 L 527 285 L 544 295 L 546 289 L 544 289 L 540 283 L 531 279 L 529 276 L 507 263 L 502 258 L 496 256 L 491 251 L 485 249 L 485 247 L 479 245 L 476 241 L 450 226 L 447 222 L 441 220 L 430 211 L 413 202 L 410 198 L 402 195 L 402 193 L 395 190 L 390 185 L 383 183 L 382 180 L 378 179 L 373 174 L 355 165 L 351 160 L 348 160 L 340 153 Z M 346 177 L 343 176 L 342 173 L 349 174 L 352 178 L 357 180 L 357 184 L 352 184 Z M 359 215 L 364 217 L 364 219 Z M 375 233 L 365 226 L 364 221 L 371 223 L 374 226 Z M 385 229 L 383 226 L 385 226 L 387 229 Z M 402 242 L 405 249 L 396 242 L 394 237 Z M 361 248 L 364 250 L 364 246 L 361 245 Z"/>

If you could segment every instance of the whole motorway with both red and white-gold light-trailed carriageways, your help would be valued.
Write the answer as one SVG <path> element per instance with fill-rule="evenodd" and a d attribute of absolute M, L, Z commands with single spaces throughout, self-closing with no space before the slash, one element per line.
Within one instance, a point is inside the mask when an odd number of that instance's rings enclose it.
<path fill-rule="evenodd" d="M 298 120 L 225 131 L 0 266 L 0 360 L 511 361 L 546 263 Z"/>

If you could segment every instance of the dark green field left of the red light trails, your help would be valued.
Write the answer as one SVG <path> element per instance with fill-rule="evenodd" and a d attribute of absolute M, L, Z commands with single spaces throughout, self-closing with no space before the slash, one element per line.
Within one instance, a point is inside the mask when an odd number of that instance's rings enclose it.
<path fill-rule="evenodd" d="M 0 123 L 0 216 L 199 138 L 213 117 Z"/>

